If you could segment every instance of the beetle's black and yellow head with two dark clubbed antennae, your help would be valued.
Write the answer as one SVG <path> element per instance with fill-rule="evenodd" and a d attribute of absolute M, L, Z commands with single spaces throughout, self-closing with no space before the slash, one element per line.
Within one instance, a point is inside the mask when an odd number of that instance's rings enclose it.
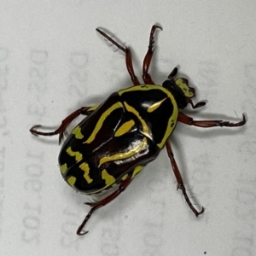
<path fill-rule="evenodd" d="M 177 67 L 172 70 L 172 73 L 168 76 L 168 79 L 162 84 L 167 90 L 172 92 L 177 102 L 177 107 L 180 109 L 186 108 L 188 103 L 192 108 L 201 108 L 206 105 L 206 102 L 198 102 L 195 105 L 191 101 L 191 98 L 195 97 L 195 88 L 189 87 L 188 79 L 174 79 L 177 74 Z"/>

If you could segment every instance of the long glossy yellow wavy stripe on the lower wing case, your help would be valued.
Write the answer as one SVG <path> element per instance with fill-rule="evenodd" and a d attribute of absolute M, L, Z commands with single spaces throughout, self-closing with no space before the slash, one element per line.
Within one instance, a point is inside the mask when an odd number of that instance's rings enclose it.
<path fill-rule="evenodd" d="M 112 155 L 102 157 L 98 167 L 102 166 L 102 164 L 107 163 L 109 161 L 124 160 L 126 158 L 129 158 L 129 157 L 139 153 L 146 147 L 147 147 L 147 138 L 143 137 L 143 142 L 139 143 L 134 148 L 129 148 L 129 150 L 127 152 L 122 152 L 122 153 L 112 154 Z"/>

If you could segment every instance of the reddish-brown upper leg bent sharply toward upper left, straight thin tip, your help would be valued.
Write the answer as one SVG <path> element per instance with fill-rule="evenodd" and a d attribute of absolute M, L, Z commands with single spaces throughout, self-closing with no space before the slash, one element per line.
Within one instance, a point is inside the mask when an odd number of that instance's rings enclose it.
<path fill-rule="evenodd" d="M 131 58 L 131 49 L 128 47 L 122 47 L 120 44 L 118 44 L 116 41 L 113 40 L 113 38 L 110 38 L 106 33 L 102 32 L 100 29 L 96 28 L 96 32 L 99 32 L 104 38 L 107 38 L 109 42 L 111 42 L 113 45 L 115 45 L 117 48 L 121 49 L 125 53 L 125 62 L 126 67 L 128 70 L 128 73 L 130 74 L 131 81 L 134 85 L 140 85 L 141 83 L 137 79 L 137 76 L 134 73 L 133 66 L 132 66 L 132 58 Z"/>

